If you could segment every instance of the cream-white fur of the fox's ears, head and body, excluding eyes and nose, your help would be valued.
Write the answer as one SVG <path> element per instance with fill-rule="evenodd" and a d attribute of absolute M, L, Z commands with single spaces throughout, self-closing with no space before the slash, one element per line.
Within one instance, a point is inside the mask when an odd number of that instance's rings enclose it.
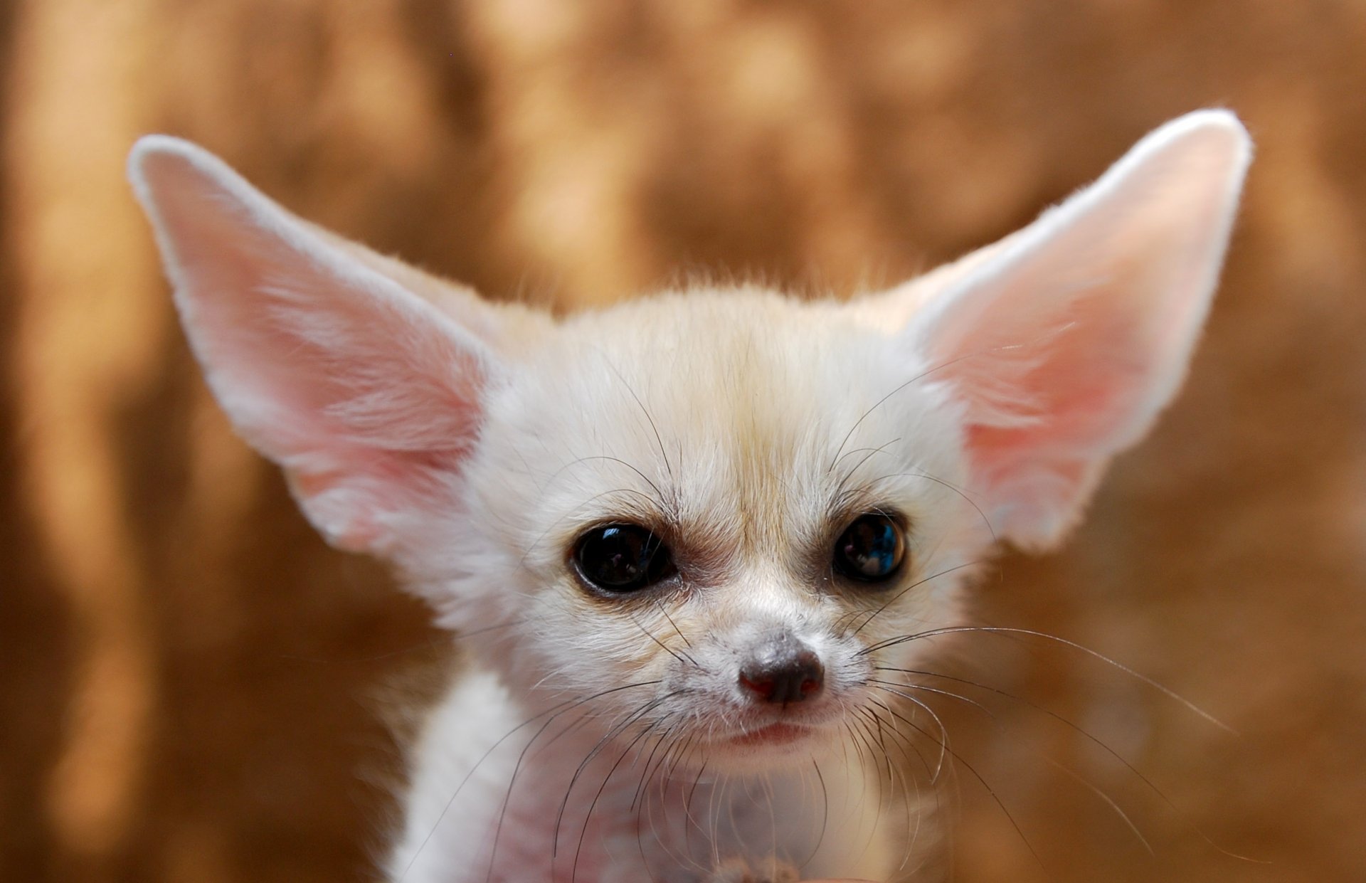
<path fill-rule="evenodd" d="M 997 537 L 1056 543 L 1175 394 L 1249 156 L 1232 115 L 1193 113 L 885 294 L 701 290 L 552 321 L 141 141 L 130 175 L 224 409 L 329 540 L 389 558 L 469 631 L 478 662 L 415 745 L 389 879 L 912 871 L 943 735 L 867 678 L 934 638 L 878 642 L 959 623 Z M 910 566 L 877 590 L 828 565 L 872 508 L 910 526 Z M 575 577 L 576 537 L 622 521 L 665 537 L 676 581 L 604 599 Z M 824 663 L 814 700 L 746 700 L 736 673 L 776 631 Z M 803 735 L 744 741 L 773 723 Z M 907 759 L 891 776 L 884 750 Z"/>

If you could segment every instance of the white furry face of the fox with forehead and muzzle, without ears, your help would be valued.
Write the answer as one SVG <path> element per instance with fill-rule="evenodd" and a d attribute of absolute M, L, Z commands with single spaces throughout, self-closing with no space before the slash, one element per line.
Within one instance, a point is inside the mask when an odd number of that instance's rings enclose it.
<path fill-rule="evenodd" d="M 459 599 L 445 622 L 514 623 L 484 634 L 523 689 L 653 681 L 646 719 L 713 764 L 839 744 L 878 698 L 870 648 L 952 622 L 956 577 L 992 541 L 958 489 L 947 388 L 858 313 L 761 291 L 653 298 L 548 338 L 490 402 L 469 545 L 425 577 Z M 619 714 L 641 700 L 623 692 Z"/>

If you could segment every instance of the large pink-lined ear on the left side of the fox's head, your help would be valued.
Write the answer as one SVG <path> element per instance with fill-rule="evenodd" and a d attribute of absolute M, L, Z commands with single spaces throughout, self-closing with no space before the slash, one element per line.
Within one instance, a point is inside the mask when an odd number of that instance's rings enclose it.
<path fill-rule="evenodd" d="M 500 377 L 492 310 L 438 310 L 413 293 L 429 277 L 306 224 L 193 144 L 141 139 L 128 176 L 238 432 L 328 541 L 402 555 L 414 519 L 458 504 Z"/>

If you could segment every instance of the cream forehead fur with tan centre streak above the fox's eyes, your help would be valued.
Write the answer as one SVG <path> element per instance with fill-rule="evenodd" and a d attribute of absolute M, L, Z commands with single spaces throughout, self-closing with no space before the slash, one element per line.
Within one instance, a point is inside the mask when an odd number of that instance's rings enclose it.
<path fill-rule="evenodd" d="M 914 354 L 832 301 L 658 295 L 575 316 L 529 359 L 492 407 L 481 447 L 501 485 L 486 502 L 537 513 L 552 547 L 632 518 L 791 551 L 841 510 L 937 499 L 912 467 L 958 478 L 932 379 L 896 391 L 922 370 Z M 534 499 L 514 503 L 508 472 Z"/>

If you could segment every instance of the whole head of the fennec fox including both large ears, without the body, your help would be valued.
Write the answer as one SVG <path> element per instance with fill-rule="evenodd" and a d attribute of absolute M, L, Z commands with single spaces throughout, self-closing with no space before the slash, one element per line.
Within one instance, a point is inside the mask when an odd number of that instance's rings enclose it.
<path fill-rule="evenodd" d="M 393 562 L 514 692 L 754 768 L 900 694 L 877 671 L 960 622 L 999 541 L 1065 536 L 1183 379 L 1249 159 L 1198 112 L 889 291 L 561 318 L 322 231 L 184 141 L 143 138 L 130 175 L 213 392 L 332 544 Z"/>

